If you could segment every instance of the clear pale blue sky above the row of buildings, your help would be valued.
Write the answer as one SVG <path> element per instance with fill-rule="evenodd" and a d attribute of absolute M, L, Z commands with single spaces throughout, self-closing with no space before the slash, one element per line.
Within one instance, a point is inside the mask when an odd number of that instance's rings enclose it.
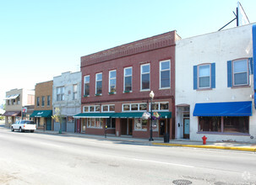
<path fill-rule="evenodd" d="M 255 23 L 256 1 L 239 2 Z M 215 32 L 236 8 L 237 0 L 0 0 L 0 105 L 11 89 L 79 71 L 81 56 L 172 30 L 182 39 Z"/>

